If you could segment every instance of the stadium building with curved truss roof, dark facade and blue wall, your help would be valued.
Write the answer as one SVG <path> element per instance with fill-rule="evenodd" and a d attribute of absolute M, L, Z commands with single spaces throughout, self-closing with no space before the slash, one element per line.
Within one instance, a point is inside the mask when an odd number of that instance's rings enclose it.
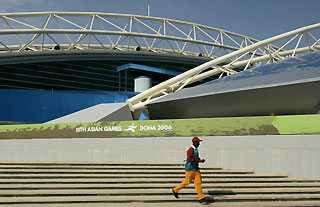
<path fill-rule="evenodd" d="M 200 24 L 138 15 L 11 13 L 1 14 L 0 21 L 5 123 L 43 123 L 99 103 L 125 102 L 257 42 Z"/>

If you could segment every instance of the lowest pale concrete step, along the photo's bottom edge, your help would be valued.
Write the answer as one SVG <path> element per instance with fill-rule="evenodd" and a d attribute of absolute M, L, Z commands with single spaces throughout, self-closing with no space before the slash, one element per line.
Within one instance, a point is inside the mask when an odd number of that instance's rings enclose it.
<path fill-rule="evenodd" d="M 212 202 L 249 202 L 249 201 L 320 201 L 320 194 L 281 194 L 281 195 L 226 195 L 207 197 Z M 0 205 L 6 204 L 50 204 L 50 203 L 114 203 L 114 202 L 197 202 L 195 195 L 184 195 L 180 199 L 173 196 L 50 196 L 50 197 L 3 197 Z"/>

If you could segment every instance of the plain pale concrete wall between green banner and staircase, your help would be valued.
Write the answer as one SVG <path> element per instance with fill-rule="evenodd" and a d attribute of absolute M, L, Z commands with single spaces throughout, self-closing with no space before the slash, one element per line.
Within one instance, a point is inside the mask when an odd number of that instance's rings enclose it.
<path fill-rule="evenodd" d="M 202 137 L 203 166 L 320 178 L 320 135 Z M 183 162 L 191 137 L 0 140 L 0 161 Z"/>

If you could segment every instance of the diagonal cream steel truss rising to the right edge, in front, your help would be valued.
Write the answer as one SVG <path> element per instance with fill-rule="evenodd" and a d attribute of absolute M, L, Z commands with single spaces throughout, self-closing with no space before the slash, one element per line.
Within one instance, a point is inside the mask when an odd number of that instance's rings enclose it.
<path fill-rule="evenodd" d="M 277 49 L 271 45 L 275 43 L 280 45 Z M 320 50 L 320 23 L 280 34 L 218 57 L 128 99 L 127 103 L 136 118 L 151 101 L 181 90 L 196 81 L 217 74 L 221 74 L 220 77 L 223 74 L 232 75 L 237 73 L 236 68 L 247 70 L 317 50 Z M 257 56 L 258 51 L 263 55 Z"/>

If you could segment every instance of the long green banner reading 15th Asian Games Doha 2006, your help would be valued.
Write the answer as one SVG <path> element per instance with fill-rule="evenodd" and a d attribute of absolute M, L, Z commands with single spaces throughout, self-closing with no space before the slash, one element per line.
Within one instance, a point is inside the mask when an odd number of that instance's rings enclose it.
<path fill-rule="evenodd" d="M 320 134 L 320 115 L 0 126 L 0 139 Z"/>

